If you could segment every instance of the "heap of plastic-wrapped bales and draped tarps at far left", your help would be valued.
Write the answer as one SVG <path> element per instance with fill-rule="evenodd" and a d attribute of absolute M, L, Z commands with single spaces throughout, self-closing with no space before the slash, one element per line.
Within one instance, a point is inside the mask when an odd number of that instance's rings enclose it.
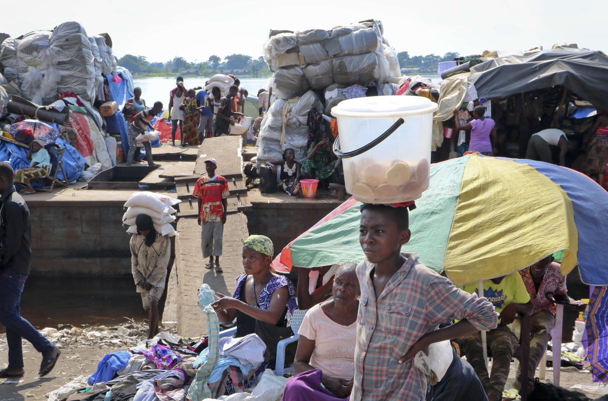
<path fill-rule="evenodd" d="M 16 38 L 0 35 L 4 136 L 24 118 L 55 124 L 58 137 L 77 149 L 86 166 L 111 168 L 120 146 L 111 134 L 128 144 L 125 119 L 116 111 L 133 97 L 133 89 L 130 72 L 116 65 L 107 33 L 88 35 L 81 24 L 69 21 Z M 100 109 L 108 104 L 112 111 L 102 116 Z"/>

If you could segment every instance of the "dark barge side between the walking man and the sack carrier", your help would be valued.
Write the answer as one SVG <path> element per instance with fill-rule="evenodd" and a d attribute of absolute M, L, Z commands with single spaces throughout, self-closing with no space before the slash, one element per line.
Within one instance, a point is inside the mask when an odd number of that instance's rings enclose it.
<path fill-rule="evenodd" d="M 120 224 L 124 203 L 28 202 L 32 274 L 131 275 L 130 235 Z"/>

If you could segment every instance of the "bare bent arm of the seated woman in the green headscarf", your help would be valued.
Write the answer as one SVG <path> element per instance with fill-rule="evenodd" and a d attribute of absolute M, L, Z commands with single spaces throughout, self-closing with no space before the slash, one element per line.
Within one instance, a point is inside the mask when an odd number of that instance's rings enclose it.
<path fill-rule="evenodd" d="M 220 293 L 217 293 L 217 295 L 221 299 L 213 303 L 213 308 L 216 310 L 216 312 L 226 310 L 228 317 L 232 315 L 236 317 L 237 311 L 241 311 L 255 320 L 260 320 L 270 324 L 277 324 L 278 320 L 285 311 L 289 290 L 287 286 L 274 290 L 268 309 L 260 309 L 255 306 L 251 306 L 241 300 L 232 298 L 231 296 L 225 296 Z M 234 320 L 234 318 L 228 321 L 232 320 Z"/>

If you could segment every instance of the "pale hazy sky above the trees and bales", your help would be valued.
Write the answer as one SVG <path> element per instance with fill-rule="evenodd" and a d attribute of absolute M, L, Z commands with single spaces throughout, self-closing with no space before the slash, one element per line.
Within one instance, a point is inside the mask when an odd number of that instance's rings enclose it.
<path fill-rule="evenodd" d="M 16 37 L 78 21 L 89 35 L 109 33 L 118 58 L 133 54 L 148 61 L 179 56 L 200 62 L 210 55 L 224 58 L 233 53 L 257 58 L 271 29 L 331 29 L 370 18 L 382 21 L 384 37 L 396 52 L 410 55 L 517 52 L 535 46 L 547 49 L 556 43 L 608 50 L 608 2 L 603 0 L 7 3 L 2 5 L 0 32 Z M 407 8 L 407 4 L 415 7 Z"/>

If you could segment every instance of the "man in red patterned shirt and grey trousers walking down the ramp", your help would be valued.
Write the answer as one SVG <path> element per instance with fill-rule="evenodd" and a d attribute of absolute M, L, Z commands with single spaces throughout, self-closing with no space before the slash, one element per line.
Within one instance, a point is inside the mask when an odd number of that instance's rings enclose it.
<path fill-rule="evenodd" d="M 207 269 L 215 268 L 216 273 L 222 273 L 219 256 L 222 254 L 222 239 L 228 207 L 226 200 L 228 181 L 215 174 L 217 167 L 218 162 L 212 157 L 205 160 L 207 175 L 196 181 L 192 196 L 198 197 L 198 225 L 201 226 L 202 257 L 209 258 L 205 267 Z M 213 256 L 215 256 L 215 264 Z"/>

